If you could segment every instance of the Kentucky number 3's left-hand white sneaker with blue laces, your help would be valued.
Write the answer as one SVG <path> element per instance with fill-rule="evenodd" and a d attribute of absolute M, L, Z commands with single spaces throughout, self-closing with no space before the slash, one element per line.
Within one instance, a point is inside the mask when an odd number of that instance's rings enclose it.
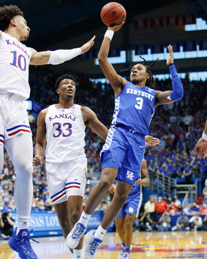
<path fill-rule="evenodd" d="M 66 237 L 66 245 L 68 248 L 76 248 L 80 238 L 84 235 L 87 227 L 83 226 L 81 223 L 76 223 L 71 232 Z"/>

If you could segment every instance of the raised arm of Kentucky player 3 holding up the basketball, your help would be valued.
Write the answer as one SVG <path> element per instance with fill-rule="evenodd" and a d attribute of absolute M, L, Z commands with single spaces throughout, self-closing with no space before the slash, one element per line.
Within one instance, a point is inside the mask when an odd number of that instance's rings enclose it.
<path fill-rule="evenodd" d="M 105 74 L 106 78 L 112 85 L 115 91 L 115 97 L 121 93 L 122 88 L 124 87 L 127 80 L 117 74 L 114 67 L 108 60 L 108 54 L 109 54 L 112 36 L 115 31 L 118 31 L 122 27 L 123 24 L 124 22 L 113 27 L 108 27 L 108 30 L 105 34 L 105 37 L 102 41 L 102 44 L 98 53 L 99 66 L 103 71 L 103 74 Z"/>

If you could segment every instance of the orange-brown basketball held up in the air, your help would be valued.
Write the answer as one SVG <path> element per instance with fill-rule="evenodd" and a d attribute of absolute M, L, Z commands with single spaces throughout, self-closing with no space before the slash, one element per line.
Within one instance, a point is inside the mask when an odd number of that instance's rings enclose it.
<path fill-rule="evenodd" d="M 100 12 L 100 18 L 107 26 L 114 26 L 126 20 L 126 10 L 122 5 L 111 2 L 104 6 Z"/>

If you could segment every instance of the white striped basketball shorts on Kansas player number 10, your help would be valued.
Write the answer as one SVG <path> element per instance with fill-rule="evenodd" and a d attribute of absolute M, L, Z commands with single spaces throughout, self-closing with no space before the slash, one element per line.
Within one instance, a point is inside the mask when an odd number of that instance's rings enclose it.
<path fill-rule="evenodd" d="M 25 103 L 0 96 L 0 144 L 19 134 L 32 135 Z"/>

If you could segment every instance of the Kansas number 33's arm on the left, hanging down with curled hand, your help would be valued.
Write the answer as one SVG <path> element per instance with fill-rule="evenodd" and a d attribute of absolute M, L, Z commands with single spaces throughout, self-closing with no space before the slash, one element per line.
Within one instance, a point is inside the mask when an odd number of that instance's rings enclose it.
<path fill-rule="evenodd" d="M 48 108 L 42 110 L 37 117 L 37 135 L 36 144 L 34 148 L 34 158 L 33 165 L 38 166 L 42 164 L 44 154 L 45 154 L 45 144 L 46 144 L 46 126 L 45 126 L 45 116 L 47 114 Z"/>

